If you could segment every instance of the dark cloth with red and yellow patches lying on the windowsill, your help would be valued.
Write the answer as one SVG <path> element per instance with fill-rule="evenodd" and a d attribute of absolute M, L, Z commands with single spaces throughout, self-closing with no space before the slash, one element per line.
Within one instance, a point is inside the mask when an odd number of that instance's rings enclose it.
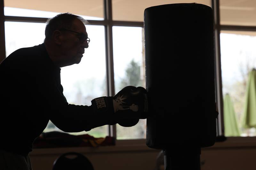
<path fill-rule="evenodd" d="M 115 145 L 114 137 L 95 138 L 88 134 L 70 135 L 68 133 L 52 131 L 42 133 L 36 138 L 33 148 L 56 148 L 56 147 L 98 147 Z"/>

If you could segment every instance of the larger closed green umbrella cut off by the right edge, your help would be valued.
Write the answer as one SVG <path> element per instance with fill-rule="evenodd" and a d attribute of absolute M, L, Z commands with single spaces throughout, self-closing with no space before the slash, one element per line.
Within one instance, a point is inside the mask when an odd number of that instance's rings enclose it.
<path fill-rule="evenodd" d="M 243 128 L 256 128 L 256 70 L 249 73 L 245 94 Z"/>

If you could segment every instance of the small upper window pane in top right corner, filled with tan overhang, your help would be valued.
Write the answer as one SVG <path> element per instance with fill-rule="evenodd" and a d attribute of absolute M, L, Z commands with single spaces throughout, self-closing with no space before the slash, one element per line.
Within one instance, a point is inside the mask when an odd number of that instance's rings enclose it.
<path fill-rule="evenodd" d="M 256 26 L 255 0 L 220 0 L 220 24 Z"/>

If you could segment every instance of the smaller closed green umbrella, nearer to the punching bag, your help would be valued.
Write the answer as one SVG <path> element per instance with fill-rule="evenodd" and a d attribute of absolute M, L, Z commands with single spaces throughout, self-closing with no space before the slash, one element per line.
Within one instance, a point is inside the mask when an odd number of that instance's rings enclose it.
<path fill-rule="evenodd" d="M 240 136 L 236 113 L 228 93 L 225 95 L 223 107 L 225 136 Z"/>

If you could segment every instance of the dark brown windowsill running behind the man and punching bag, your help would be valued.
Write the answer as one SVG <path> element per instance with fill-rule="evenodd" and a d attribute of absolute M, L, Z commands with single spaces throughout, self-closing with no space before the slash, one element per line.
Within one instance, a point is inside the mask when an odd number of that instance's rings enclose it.
<path fill-rule="evenodd" d="M 216 142 L 211 147 L 202 150 L 248 148 L 256 147 L 256 137 L 227 137 L 224 142 Z M 113 153 L 113 152 L 159 152 L 161 150 L 149 148 L 146 139 L 117 140 L 115 146 L 100 147 L 68 147 L 68 148 L 44 148 L 33 149 L 30 155 L 63 154 L 66 152 L 79 153 Z"/>

